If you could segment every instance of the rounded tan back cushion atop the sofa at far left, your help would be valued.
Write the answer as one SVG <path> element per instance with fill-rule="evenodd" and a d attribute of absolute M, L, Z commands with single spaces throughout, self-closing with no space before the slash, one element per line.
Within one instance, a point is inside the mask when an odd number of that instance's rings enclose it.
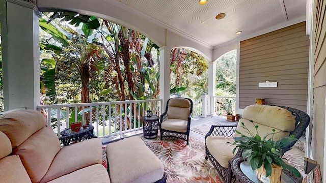
<path fill-rule="evenodd" d="M 8 136 L 12 148 L 45 126 L 44 116 L 36 110 L 19 110 L 0 116 L 0 131 Z"/>

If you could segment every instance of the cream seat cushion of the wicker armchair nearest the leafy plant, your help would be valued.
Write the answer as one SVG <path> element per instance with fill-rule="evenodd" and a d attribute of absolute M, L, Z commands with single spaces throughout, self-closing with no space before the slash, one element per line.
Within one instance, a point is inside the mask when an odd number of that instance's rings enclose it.
<path fill-rule="evenodd" d="M 209 153 L 224 168 L 229 167 L 229 161 L 234 157 L 237 152 L 236 150 L 233 155 L 232 150 L 235 145 L 227 144 L 227 142 L 233 143 L 233 141 L 233 137 L 208 136 L 206 138 L 206 146 L 209 150 Z"/>

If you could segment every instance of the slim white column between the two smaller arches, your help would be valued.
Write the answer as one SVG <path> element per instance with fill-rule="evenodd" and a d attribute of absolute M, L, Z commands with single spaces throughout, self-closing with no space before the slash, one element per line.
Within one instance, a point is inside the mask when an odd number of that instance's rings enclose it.
<path fill-rule="evenodd" d="M 213 115 L 214 110 L 213 107 L 213 100 L 212 97 L 215 96 L 215 88 L 216 88 L 216 62 L 210 62 L 208 63 L 208 111 L 211 115 Z"/>

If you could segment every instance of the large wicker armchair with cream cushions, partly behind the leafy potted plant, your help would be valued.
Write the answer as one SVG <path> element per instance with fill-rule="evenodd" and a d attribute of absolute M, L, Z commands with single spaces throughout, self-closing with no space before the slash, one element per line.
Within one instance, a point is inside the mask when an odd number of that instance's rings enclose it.
<path fill-rule="evenodd" d="M 231 163 L 234 159 L 241 157 L 241 149 L 232 154 L 234 145 L 226 144 L 233 142 L 235 130 L 242 134 L 248 134 L 241 127 L 241 123 L 251 131 L 255 132 L 255 126 L 250 122 L 253 120 L 258 125 L 258 133 L 264 136 L 275 129 L 274 140 L 293 135 L 299 139 L 309 125 L 310 118 L 307 113 L 284 106 L 250 105 L 243 109 L 242 118 L 237 125 L 233 126 L 211 126 L 205 136 L 206 157 L 209 159 L 224 182 L 231 182 L 233 172 Z M 283 148 L 283 154 L 289 150 L 295 142 Z"/>

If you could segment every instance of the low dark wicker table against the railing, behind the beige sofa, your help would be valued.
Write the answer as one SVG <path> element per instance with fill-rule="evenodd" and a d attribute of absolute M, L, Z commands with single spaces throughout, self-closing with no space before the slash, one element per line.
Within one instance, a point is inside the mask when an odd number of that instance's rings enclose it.
<path fill-rule="evenodd" d="M 60 133 L 62 137 L 60 137 L 59 140 L 62 141 L 64 146 L 67 146 L 86 139 L 96 138 L 96 136 L 93 135 L 93 130 L 94 127 L 91 125 L 87 125 L 85 129 L 82 126 L 79 132 L 74 132 L 70 128 L 67 128 Z"/>

